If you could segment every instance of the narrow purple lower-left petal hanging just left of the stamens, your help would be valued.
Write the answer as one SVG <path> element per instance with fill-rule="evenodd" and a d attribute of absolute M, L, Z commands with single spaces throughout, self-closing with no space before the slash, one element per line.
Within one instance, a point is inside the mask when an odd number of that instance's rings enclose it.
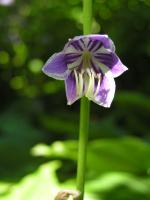
<path fill-rule="evenodd" d="M 76 79 L 74 73 L 71 73 L 65 80 L 67 104 L 73 104 L 79 97 L 76 92 Z"/>

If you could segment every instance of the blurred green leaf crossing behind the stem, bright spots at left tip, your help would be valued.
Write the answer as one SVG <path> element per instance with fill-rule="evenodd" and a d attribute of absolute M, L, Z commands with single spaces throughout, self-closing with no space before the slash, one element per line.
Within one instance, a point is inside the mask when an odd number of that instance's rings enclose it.
<path fill-rule="evenodd" d="M 77 141 L 56 141 L 50 146 L 37 145 L 32 153 L 36 156 L 76 160 L 77 146 Z M 137 138 L 101 139 L 89 144 L 88 168 L 95 176 L 107 171 L 146 175 L 150 166 L 149 156 L 149 145 Z"/>

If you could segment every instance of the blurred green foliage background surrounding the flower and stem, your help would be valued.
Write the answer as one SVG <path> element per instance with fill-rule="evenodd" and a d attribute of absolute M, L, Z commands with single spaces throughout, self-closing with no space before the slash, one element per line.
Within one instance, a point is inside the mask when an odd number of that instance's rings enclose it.
<path fill-rule="evenodd" d="M 150 199 L 150 1 L 94 0 L 129 71 L 110 109 L 91 103 L 86 200 Z M 81 0 L 0 0 L 0 200 L 50 200 L 75 188 L 79 101 L 41 72 L 82 34 Z"/>

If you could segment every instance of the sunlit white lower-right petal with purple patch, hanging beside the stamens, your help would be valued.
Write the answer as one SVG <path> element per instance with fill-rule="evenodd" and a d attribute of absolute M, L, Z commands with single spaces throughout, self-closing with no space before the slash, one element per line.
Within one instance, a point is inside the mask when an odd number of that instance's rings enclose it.
<path fill-rule="evenodd" d="M 96 95 L 93 96 L 92 101 L 103 107 L 109 108 L 115 94 L 115 81 L 110 71 L 108 71 L 102 79 L 99 92 L 96 91 Z"/>

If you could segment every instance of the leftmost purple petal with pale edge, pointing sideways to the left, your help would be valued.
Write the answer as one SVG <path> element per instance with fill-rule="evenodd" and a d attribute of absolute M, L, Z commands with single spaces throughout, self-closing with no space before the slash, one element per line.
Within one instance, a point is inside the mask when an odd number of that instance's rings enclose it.
<path fill-rule="evenodd" d="M 64 80 L 69 74 L 65 60 L 65 54 L 55 53 L 51 56 L 43 67 L 43 72 L 55 79 Z"/>

